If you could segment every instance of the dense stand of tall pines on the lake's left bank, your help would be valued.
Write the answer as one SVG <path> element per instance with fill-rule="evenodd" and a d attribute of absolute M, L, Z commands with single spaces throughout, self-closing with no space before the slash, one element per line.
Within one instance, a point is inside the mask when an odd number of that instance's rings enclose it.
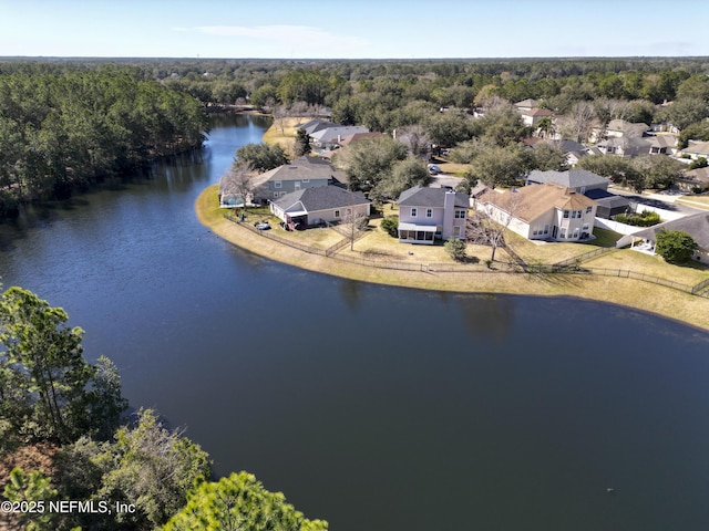
<path fill-rule="evenodd" d="M 140 69 L 2 64 L 0 216 L 199 147 L 207 126 L 198 100 Z"/>

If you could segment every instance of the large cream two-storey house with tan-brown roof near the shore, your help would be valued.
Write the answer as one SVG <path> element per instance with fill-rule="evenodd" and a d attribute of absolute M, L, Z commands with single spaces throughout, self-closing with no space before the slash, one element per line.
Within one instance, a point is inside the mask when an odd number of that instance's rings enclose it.
<path fill-rule="evenodd" d="M 592 237 L 597 204 L 556 183 L 505 192 L 490 190 L 477 209 L 528 240 L 579 241 Z"/>

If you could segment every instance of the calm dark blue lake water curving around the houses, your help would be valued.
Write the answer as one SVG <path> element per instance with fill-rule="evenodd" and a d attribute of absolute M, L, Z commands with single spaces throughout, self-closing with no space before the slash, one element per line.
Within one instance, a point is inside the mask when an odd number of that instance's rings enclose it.
<path fill-rule="evenodd" d="M 0 225 L 3 283 L 63 306 L 218 473 L 333 531 L 707 529 L 709 334 L 240 251 L 193 205 L 266 125 L 217 118 L 201 159 Z"/>

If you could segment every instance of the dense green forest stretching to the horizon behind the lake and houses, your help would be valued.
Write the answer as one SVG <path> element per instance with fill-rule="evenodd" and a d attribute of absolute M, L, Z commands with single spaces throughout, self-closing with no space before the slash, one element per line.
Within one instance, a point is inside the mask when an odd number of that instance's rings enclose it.
<path fill-rule="evenodd" d="M 207 113 L 220 110 L 256 110 L 278 118 L 327 108 L 333 122 L 459 148 L 455 155 L 466 164 L 481 154 L 474 174 L 486 171 L 484 159 L 493 153 L 507 166 L 538 167 L 520 160 L 520 142 L 532 131 L 510 112 L 512 103 L 526 98 L 564 117 L 555 131 L 564 138 L 587 142 L 593 126 L 623 118 L 671 123 L 686 145 L 689 138 L 709 139 L 708 75 L 706 58 L 6 59 L 0 61 L 0 216 L 198 147 L 208 132 Z M 479 108 L 492 111 L 486 121 L 472 119 Z M 552 133 L 551 122 L 543 127 Z M 671 183 L 671 176 L 640 175 L 647 165 L 615 162 L 600 169 L 637 189 Z M 545 169 L 554 166 L 542 162 Z"/>

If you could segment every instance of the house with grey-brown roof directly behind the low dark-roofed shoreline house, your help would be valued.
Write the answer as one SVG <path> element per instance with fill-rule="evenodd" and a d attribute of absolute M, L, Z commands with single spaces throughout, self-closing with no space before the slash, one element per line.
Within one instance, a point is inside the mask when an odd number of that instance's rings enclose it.
<path fill-rule="evenodd" d="M 317 157 L 300 157 L 270 169 L 253 181 L 254 202 L 274 201 L 305 188 L 346 184 L 347 175 Z"/>

